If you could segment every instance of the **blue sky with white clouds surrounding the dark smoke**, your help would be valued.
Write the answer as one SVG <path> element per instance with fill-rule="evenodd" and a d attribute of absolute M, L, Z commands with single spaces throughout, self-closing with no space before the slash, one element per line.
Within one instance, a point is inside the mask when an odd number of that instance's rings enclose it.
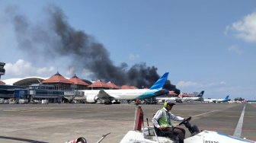
<path fill-rule="evenodd" d="M 49 15 L 56 11 L 69 26 L 66 30 L 86 37 L 117 67 L 123 62 L 126 68 L 144 63 L 157 68 L 158 75 L 169 72 L 171 84 L 184 93 L 205 91 L 204 97 L 256 100 L 254 0 L 0 0 L 3 81 L 46 78 L 57 71 L 68 78 L 75 73 L 95 79 L 86 68 L 91 59 L 85 57 L 91 55 L 69 49 L 69 43 L 63 43 L 67 33 L 52 32 Z"/>

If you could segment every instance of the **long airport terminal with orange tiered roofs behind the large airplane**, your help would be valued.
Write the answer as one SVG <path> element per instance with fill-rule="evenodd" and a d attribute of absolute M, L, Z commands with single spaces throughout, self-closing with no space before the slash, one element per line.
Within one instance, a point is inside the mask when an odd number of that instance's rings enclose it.
<path fill-rule="evenodd" d="M 0 66 L 2 71 L 5 71 L 5 64 L 0 65 L 2 65 Z M 2 75 L 4 74 L 5 72 L 2 72 Z M 136 89 L 136 87 L 128 85 L 119 87 L 110 81 L 104 83 L 98 80 L 91 83 L 78 78 L 76 75 L 67 79 L 59 72 L 50 78 L 14 78 L 7 83 L 0 82 L 0 103 L 37 103 L 42 100 L 47 100 L 49 103 L 66 103 L 72 100 L 83 100 L 85 102 L 85 94 L 80 90 Z"/>

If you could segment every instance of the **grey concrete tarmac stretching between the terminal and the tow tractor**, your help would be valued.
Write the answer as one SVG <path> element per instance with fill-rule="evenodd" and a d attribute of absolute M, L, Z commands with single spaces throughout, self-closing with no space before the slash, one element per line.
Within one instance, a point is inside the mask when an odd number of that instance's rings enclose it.
<path fill-rule="evenodd" d="M 141 106 L 144 125 L 148 118 L 152 126 L 152 116 L 162 105 Z M 133 129 L 135 108 L 134 104 L 0 104 L 0 142 L 65 143 L 84 137 L 94 143 L 109 132 L 102 143 L 120 142 Z M 256 104 L 177 103 L 171 113 L 192 116 L 190 123 L 200 130 L 234 135 L 244 108 L 241 137 L 256 141 Z M 187 129 L 186 136 L 190 136 Z"/>

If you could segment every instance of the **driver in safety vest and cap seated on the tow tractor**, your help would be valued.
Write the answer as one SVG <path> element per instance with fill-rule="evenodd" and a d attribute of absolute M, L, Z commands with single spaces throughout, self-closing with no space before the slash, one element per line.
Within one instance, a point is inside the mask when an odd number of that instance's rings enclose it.
<path fill-rule="evenodd" d="M 179 142 L 183 143 L 185 138 L 185 130 L 174 127 L 171 124 L 171 119 L 174 121 L 184 121 L 184 118 L 181 116 L 174 116 L 174 114 L 170 112 L 172 106 L 174 105 L 175 103 L 172 103 L 171 100 L 166 100 L 164 107 L 155 113 L 155 116 L 152 118 L 152 122 L 156 130 L 158 130 L 156 132 L 159 136 L 173 138 L 174 135 L 177 135 Z"/>

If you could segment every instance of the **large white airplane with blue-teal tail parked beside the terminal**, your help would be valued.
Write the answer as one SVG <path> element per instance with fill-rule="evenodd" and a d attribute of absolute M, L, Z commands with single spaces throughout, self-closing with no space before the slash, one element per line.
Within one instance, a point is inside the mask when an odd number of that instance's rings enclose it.
<path fill-rule="evenodd" d="M 120 89 L 120 90 L 81 90 L 85 93 L 88 103 L 113 103 L 118 100 L 142 100 L 159 95 L 168 94 L 169 91 L 162 89 L 168 78 L 168 72 L 165 72 L 155 84 L 149 89 Z M 118 102 L 117 102 L 118 103 Z"/>

